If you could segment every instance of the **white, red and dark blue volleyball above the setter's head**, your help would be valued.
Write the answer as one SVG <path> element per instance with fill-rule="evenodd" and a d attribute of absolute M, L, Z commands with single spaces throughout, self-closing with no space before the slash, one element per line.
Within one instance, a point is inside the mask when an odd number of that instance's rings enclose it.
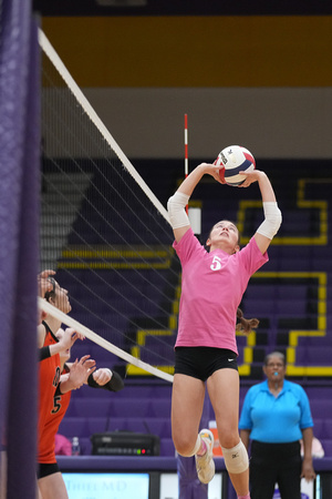
<path fill-rule="evenodd" d="M 215 161 L 220 165 L 219 175 L 228 185 L 241 185 L 246 176 L 239 172 L 252 172 L 256 169 L 255 157 L 248 149 L 241 145 L 229 145 L 222 149 Z"/>

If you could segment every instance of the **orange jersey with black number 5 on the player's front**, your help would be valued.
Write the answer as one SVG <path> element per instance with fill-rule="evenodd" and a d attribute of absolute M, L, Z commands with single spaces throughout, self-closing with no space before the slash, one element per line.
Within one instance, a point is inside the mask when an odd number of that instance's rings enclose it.
<path fill-rule="evenodd" d="M 69 373 L 69 368 L 64 365 L 62 374 Z M 59 425 L 62 421 L 63 416 L 68 409 L 71 400 L 71 391 L 61 394 L 58 389 L 53 397 L 53 407 L 49 413 L 43 430 L 39 439 L 39 452 L 38 462 L 52 464 L 56 462 L 55 459 L 55 435 L 59 429 Z"/>

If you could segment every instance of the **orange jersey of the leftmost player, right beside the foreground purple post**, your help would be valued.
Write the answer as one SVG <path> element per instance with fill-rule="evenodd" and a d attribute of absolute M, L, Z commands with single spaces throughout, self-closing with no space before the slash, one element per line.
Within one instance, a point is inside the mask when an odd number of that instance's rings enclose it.
<path fill-rule="evenodd" d="M 46 329 L 46 336 L 43 346 L 54 345 L 58 339 L 43 323 Z M 48 420 L 48 417 L 53 409 L 53 398 L 60 380 L 60 355 L 53 355 L 39 363 L 39 420 L 38 420 L 38 440 L 40 439 Z"/>

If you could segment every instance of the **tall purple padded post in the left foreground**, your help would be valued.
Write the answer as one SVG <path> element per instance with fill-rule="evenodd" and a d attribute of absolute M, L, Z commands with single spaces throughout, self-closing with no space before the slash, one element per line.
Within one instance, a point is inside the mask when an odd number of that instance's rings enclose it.
<path fill-rule="evenodd" d="M 30 0 L 2 0 L 0 435 L 12 499 L 35 499 L 40 49 L 31 11 Z"/>

